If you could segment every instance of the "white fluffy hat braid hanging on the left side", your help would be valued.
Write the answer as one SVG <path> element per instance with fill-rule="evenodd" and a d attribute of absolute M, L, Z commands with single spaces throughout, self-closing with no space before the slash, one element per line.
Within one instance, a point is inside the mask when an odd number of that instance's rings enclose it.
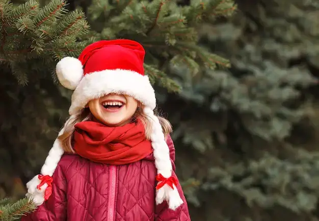
<path fill-rule="evenodd" d="M 62 128 L 60 131 L 59 136 L 63 134 L 63 132 L 64 128 Z M 58 139 L 56 139 L 48 153 L 48 156 L 45 159 L 44 165 L 41 168 L 41 175 L 52 176 L 63 154 L 64 150 L 62 149 L 61 143 Z M 26 183 L 28 192 L 25 194 L 25 197 L 30 198 L 30 200 L 32 200 L 36 206 L 43 204 L 44 193 L 47 187 L 47 184 L 45 183 L 40 189 L 37 188 L 41 182 L 38 176 L 39 175 L 35 176 L 32 180 Z"/>

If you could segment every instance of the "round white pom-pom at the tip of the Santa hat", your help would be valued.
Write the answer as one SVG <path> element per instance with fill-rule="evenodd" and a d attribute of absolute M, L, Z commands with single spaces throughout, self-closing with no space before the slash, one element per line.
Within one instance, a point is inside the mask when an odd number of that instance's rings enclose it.
<path fill-rule="evenodd" d="M 77 58 L 65 57 L 58 62 L 56 72 L 60 83 L 74 90 L 83 78 L 83 65 Z"/>

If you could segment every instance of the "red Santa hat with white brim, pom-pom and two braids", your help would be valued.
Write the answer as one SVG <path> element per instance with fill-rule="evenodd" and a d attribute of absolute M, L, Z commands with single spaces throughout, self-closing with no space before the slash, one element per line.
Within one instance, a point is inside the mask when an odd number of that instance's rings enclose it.
<path fill-rule="evenodd" d="M 162 126 L 153 113 L 156 98 L 148 77 L 144 75 L 144 56 L 143 46 L 136 41 L 102 40 L 88 45 L 78 58 L 63 58 L 58 62 L 56 72 L 60 83 L 74 90 L 69 108 L 70 119 L 81 112 L 89 101 L 109 93 L 130 95 L 144 105 L 143 112 L 152 122 L 151 143 L 158 177 L 163 176 L 158 186 L 162 186 L 162 182 L 172 179 L 172 164 Z M 41 175 L 26 184 L 26 196 L 36 205 L 41 205 L 49 197 L 46 188 L 52 182 L 51 176 L 63 154 L 60 141 L 56 139 L 42 166 Z M 38 188 L 39 185 L 41 188 Z M 169 182 L 156 188 L 156 204 L 164 200 L 173 210 L 183 203 L 175 184 L 173 188 Z"/>

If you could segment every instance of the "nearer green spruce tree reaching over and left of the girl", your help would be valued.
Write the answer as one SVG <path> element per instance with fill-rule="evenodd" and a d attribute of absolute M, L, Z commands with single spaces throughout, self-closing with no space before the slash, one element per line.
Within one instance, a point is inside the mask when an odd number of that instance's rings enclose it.
<path fill-rule="evenodd" d="M 12 176 L 25 183 L 36 173 L 56 137 L 54 130 L 64 121 L 60 118 L 67 115 L 70 91 L 50 80 L 53 77 L 56 82 L 57 60 L 76 57 L 84 46 L 99 39 L 137 40 L 146 49 L 146 74 L 152 83 L 169 91 L 180 89 L 168 75 L 174 66 L 187 65 L 191 71 L 186 78 L 203 67 L 229 66 L 228 60 L 197 44 L 197 28 L 203 21 L 231 15 L 235 9 L 231 0 L 194 1 L 190 6 L 164 0 L 92 2 L 83 7 L 92 25 L 90 32 L 85 14 L 68 13 L 64 0 L 52 0 L 42 8 L 35 0 L 22 5 L 0 0 L 0 4 L 4 71 L 0 89 L 7 102 L 1 110 L 4 139 L 0 152 L 3 165 L 11 164 L 0 176 L 0 183 L 5 184 L 2 189 L 10 189 Z M 15 166 L 10 159 L 15 159 Z M 0 219 L 14 220 L 33 209 L 29 199 L 4 204 Z"/>

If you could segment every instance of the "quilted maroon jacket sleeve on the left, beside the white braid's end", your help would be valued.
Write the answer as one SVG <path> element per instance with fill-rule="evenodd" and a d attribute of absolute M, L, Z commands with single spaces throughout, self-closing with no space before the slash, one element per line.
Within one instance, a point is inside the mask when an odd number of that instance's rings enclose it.
<path fill-rule="evenodd" d="M 35 212 L 21 217 L 21 221 L 66 221 L 66 179 L 61 166 L 52 175 L 52 194 Z"/>

